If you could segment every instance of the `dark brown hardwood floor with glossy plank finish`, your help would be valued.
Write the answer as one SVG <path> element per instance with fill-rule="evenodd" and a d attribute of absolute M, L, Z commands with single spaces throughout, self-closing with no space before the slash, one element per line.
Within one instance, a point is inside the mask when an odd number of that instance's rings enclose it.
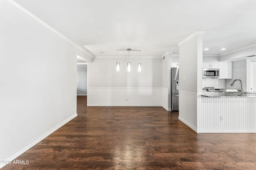
<path fill-rule="evenodd" d="M 256 134 L 197 134 L 162 107 L 86 107 L 9 169 L 256 169 Z"/>

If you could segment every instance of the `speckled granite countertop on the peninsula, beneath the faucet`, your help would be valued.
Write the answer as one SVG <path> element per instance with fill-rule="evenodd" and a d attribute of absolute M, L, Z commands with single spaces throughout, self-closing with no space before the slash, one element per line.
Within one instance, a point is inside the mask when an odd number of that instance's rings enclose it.
<path fill-rule="evenodd" d="M 256 98 L 256 93 L 244 93 L 244 95 L 241 96 L 240 93 L 203 92 L 201 96 L 204 96 L 204 97 L 207 97 L 207 98 L 229 98 L 229 97 Z"/>

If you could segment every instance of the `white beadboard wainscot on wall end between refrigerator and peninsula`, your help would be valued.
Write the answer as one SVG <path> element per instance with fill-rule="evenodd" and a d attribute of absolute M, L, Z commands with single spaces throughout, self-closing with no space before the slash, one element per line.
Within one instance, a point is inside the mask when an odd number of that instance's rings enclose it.
<path fill-rule="evenodd" d="M 197 98 L 193 93 L 180 91 L 179 120 L 191 129 L 197 129 Z"/>

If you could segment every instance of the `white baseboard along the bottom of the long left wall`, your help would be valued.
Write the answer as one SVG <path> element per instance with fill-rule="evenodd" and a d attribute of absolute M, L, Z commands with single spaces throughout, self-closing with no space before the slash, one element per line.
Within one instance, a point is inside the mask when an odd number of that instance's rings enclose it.
<path fill-rule="evenodd" d="M 17 158 L 18 156 L 20 156 L 21 154 L 23 154 L 24 152 L 26 152 L 28 149 L 32 148 L 34 145 L 36 145 L 37 143 L 39 143 L 40 141 L 42 141 L 44 138 L 48 137 L 50 134 L 52 134 L 54 131 L 58 130 L 60 127 L 62 127 L 63 125 L 65 125 L 66 123 L 68 123 L 69 121 L 71 121 L 72 119 L 74 119 L 77 116 L 77 113 L 75 113 L 74 115 L 68 117 L 68 119 L 62 121 L 61 123 L 59 123 L 58 125 L 56 125 L 55 127 L 53 127 L 52 129 L 50 129 L 48 132 L 46 132 L 44 135 L 38 137 L 37 139 L 35 139 L 34 141 L 32 141 L 31 143 L 29 143 L 28 145 L 26 145 L 25 147 L 21 148 L 20 150 L 17 150 L 16 152 L 14 152 L 12 155 L 8 156 L 7 158 L 5 158 L 3 160 L 3 162 L 8 162 L 8 161 L 12 161 L 15 158 Z M 0 164 L 0 168 L 6 166 L 6 164 Z"/>

